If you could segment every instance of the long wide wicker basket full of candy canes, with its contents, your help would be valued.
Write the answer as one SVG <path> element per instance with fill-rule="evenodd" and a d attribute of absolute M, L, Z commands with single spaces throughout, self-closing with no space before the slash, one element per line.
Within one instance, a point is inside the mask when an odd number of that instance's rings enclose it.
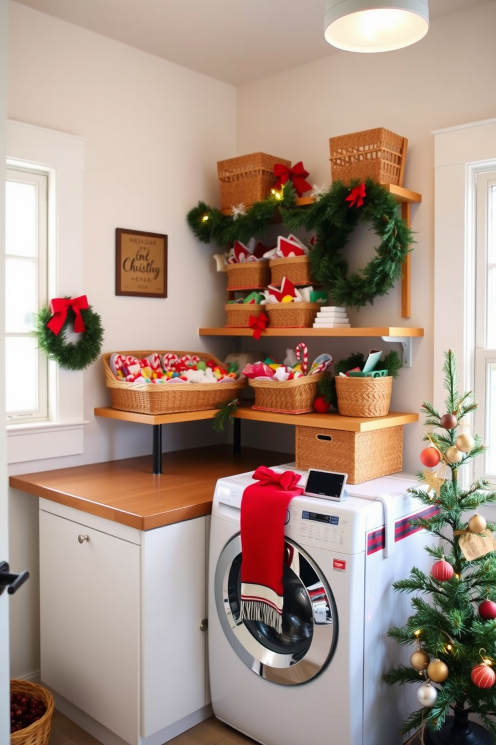
<path fill-rule="evenodd" d="M 107 352 L 103 371 L 112 407 L 146 414 L 219 408 L 246 384 L 237 363 L 205 352 Z"/>

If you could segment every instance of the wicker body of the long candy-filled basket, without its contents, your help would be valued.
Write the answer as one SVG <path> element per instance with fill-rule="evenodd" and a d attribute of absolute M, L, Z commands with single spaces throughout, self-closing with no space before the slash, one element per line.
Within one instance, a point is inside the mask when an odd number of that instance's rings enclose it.
<path fill-rule="evenodd" d="M 198 355 L 201 360 L 213 360 L 219 365 L 222 362 L 216 357 L 205 352 L 175 352 L 166 349 L 149 351 L 120 352 L 123 355 L 134 355 L 143 359 L 153 352 L 160 355 L 174 352 L 182 355 Z M 143 414 L 168 414 L 176 411 L 203 411 L 215 409 L 220 404 L 225 404 L 236 398 L 239 391 L 245 387 L 245 379 L 233 380 L 232 383 L 127 383 L 118 380 L 110 368 L 110 358 L 115 352 L 107 352 L 103 355 L 103 371 L 105 373 L 105 384 L 110 389 L 112 407 L 123 411 L 134 411 Z"/>

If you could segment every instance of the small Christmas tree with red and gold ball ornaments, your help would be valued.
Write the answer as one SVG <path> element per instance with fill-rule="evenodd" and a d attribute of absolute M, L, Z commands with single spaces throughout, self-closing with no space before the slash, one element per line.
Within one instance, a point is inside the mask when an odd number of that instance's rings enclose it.
<path fill-rule="evenodd" d="M 457 362 L 451 349 L 445 352 L 443 373 L 447 413 L 439 415 L 430 404 L 422 405 L 428 428 L 423 439 L 429 446 L 420 454 L 426 470 L 417 477 L 424 486 L 410 489 L 423 504 L 439 507 L 434 516 L 412 521 L 437 536 L 439 544 L 425 547 L 434 561 L 431 574 L 413 567 L 408 579 L 393 584 L 396 591 L 415 595 L 413 615 L 388 635 L 403 646 L 413 644 L 414 649 L 411 667 L 399 665 L 384 679 L 389 685 L 418 686 L 422 708 L 402 723 L 403 734 L 420 729 L 426 745 L 492 744 L 496 743 L 492 718 L 496 717 L 496 542 L 495 525 L 486 522 L 479 507 L 495 502 L 496 492 L 484 479 L 466 490 L 460 488 L 460 467 L 471 463 L 484 447 L 480 437 L 464 431 L 463 419 L 477 404 L 471 401 L 471 393 L 460 396 L 457 391 Z M 437 466 L 437 472 L 431 470 Z M 483 726 L 468 720 L 471 713 Z"/>

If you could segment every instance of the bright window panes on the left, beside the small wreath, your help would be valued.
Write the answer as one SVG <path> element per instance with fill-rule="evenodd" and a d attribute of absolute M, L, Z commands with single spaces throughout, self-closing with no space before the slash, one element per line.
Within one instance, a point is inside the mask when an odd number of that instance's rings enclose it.
<path fill-rule="evenodd" d="M 48 363 L 33 315 L 47 302 L 48 174 L 7 169 L 5 408 L 7 421 L 48 418 Z"/>

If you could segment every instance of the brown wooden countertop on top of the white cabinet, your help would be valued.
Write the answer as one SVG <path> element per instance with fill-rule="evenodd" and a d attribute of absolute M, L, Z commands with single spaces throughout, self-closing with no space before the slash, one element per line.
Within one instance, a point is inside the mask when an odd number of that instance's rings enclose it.
<path fill-rule="evenodd" d="M 162 454 L 163 473 L 152 474 L 149 455 L 88 466 L 10 476 L 13 489 L 50 499 L 138 530 L 210 515 L 217 479 L 291 463 L 294 454 L 231 445 Z"/>

